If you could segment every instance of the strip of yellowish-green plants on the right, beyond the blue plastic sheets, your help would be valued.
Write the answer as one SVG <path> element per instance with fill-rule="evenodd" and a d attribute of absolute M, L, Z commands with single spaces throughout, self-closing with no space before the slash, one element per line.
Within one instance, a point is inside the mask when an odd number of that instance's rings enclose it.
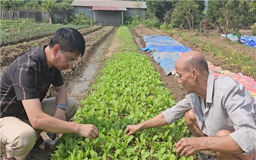
<path fill-rule="evenodd" d="M 192 42 L 194 47 L 201 47 L 203 50 L 225 59 L 230 67 L 237 67 L 248 76 L 256 77 L 256 61 L 254 58 L 237 51 L 225 51 L 223 47 L 218 47 L 210 42 L 203 41 L 194 36 L 176 30 L 165 30 L 169 34 L 178 34 L 185 41 Z"/>

